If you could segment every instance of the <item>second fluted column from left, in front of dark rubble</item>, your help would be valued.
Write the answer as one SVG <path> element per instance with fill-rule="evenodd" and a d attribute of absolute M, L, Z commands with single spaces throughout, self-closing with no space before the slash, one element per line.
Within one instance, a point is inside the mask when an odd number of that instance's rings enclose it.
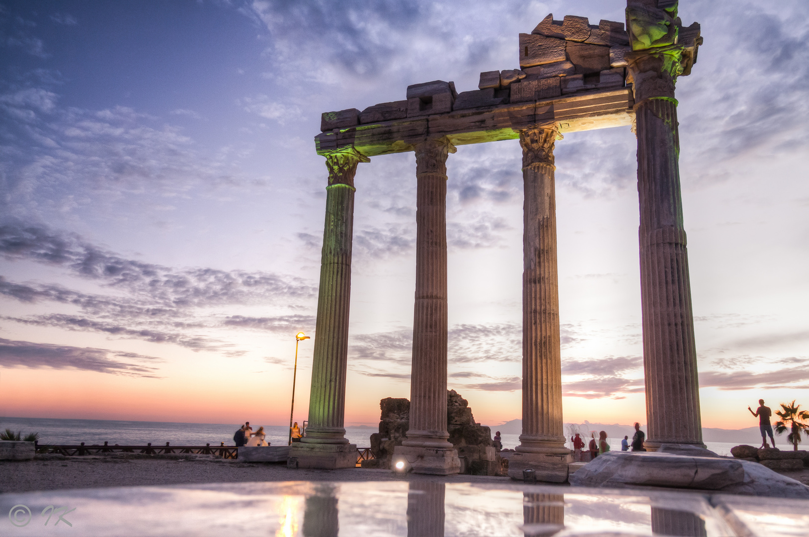
<path fill-rule="evenodd" d="M 410 377 L 410 428 L 394 451 L 413 471 L 460 471 L 447 441 L 447 154 L 448 139 L 419 143 L 416 151 L 416 303 Z"/>

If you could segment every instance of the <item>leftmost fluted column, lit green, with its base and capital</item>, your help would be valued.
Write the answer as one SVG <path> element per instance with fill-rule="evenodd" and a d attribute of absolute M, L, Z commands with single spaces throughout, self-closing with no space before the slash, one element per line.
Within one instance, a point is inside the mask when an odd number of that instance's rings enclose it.
<path fill-rule="evenodd" d="M 326 222 L 320 264 L 309 426 L 290 458 L 298 467 L 354 467 L 357 446 L 345 438 L 345 371 L 348 365 L 354 173 L 370 160 L 354 147 L 326 153 Z"/>

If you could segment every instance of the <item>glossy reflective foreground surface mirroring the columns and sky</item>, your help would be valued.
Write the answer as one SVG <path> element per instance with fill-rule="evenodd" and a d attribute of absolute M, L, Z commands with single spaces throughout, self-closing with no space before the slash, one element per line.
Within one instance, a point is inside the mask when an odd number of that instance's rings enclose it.
<path fill-rule="evenodd" d="M 19 505 L 23 525 L 6 517 Z M 40 516 L 49 505 L 74 509 L 72 526 Z M 0 535 L 809 535 L 809 501 L 419 477 L 0 494 L 0 515 Z"/>

